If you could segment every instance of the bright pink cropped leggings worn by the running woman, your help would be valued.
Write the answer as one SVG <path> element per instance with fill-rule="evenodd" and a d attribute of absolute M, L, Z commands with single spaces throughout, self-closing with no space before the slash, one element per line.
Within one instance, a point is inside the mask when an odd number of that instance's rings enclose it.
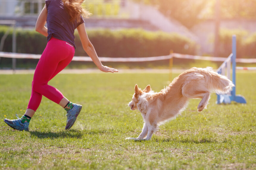
<path fill-rule="evenodd" d="M 36 111 L 42 100 L 42 95 L 57 104 L 60 103 L 64 97 L 63 94 L 57 88 L 48 85 L 48 82 L 71 62 L 74 53 L 73 46 L 51 37 L 36 66 L 27 109 Z"/>

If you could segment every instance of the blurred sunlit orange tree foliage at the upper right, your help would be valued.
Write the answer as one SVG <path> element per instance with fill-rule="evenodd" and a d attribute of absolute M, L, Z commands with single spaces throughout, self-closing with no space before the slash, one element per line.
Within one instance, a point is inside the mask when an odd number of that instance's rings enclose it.
<path fill-rule="evenodd" d="M 134 0 L 156 6 L 159 11 L 174 18 L 187 28 L 204 19 L 215 18 L 216 0 Z M 256 0 L 220 1 L 220 18 L 256 19 Z"/>

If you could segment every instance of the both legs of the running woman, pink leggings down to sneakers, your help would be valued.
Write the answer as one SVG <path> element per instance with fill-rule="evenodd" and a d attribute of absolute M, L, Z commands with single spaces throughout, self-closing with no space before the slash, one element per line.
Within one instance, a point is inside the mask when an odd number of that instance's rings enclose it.
<path fill-rule="evenodd" d="M 58 89 L 48 85 L 48 82 L 70 63 L 73 56 L 74 47 L 71 47 L 64 41 L 51 38 L 35 69 L 31 97 L 25 115 L 21 119 L 18 118 L 16 120 L 4 119 L 4 122 L 14 129 L 29 131 L 29 121 L 35 114 L 43 95 L 63 107 L 63 103 L 66 103 L 69 111 L 67 113 L 65 129 L 71 128 L 82 106 L 67 102 L 68 100 L 63 94 Z"/>

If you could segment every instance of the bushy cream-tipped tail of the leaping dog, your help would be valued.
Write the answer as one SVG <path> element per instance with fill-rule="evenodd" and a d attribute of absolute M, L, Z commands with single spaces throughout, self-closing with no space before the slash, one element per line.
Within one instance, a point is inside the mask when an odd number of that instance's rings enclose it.
<path fill-rule="evenodd" d="M 206 80 L 208 87 L 215 91 L 217 94 L 228 93 L 235 85 L 226 76 L 218 74 L 213 70 L 208 70 L 210 76 Z"/>

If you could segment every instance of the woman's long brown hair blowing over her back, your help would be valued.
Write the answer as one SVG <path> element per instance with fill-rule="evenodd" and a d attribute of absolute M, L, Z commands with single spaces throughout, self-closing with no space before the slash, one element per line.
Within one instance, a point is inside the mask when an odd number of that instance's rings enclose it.
<path fill-rule="evenodd" d="M 62 0 L 62 1 L 63 1 L 65 10 L 70 15 L 71 22 L 74 22 L 75 20 L 77 20 L 77 22 L 80 22 L 81 20 L 80 14 L 84 18 L 88 18 L 88 16 L 90 15 L 90 13 L 82 7 L 82 3 L 84 0 Z"/>

